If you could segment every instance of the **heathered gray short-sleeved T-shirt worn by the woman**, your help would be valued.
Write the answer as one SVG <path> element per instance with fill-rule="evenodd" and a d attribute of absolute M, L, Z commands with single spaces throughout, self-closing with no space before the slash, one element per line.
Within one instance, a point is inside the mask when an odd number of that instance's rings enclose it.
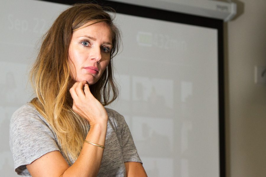
<path fill-rule="evenodd" d="M 126 176 L 124 162 L 142 162 L 124 117 L 112 109 L 106 108 L 106 111 L 106 148 L 98 176 Z M 15 171 L 28 177 L 27 164 L 51 151 L 60 151 L 61 147 L 48 122 L 33 105 L 26 104 L 14 112 L 11 118 L 10 149 Z M 65 154 L 62 155 L 66 159 Z M 74 163 L 74 160 L 71 159 L 71 162 Z"/>

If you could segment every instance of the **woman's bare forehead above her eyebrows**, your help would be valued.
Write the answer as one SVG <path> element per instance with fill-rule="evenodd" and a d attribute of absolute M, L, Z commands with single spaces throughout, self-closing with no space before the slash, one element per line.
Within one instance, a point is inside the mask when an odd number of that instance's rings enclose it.
<path fill-rule="evenodd" d="M 111 27 L 106 22 L 87 22 L 77 30 L 73 31 L 73 37 L 81 37 L 89 35 L 95 38 L 104 38 L 105 40 L 111 41 L 112 31 Z"/>

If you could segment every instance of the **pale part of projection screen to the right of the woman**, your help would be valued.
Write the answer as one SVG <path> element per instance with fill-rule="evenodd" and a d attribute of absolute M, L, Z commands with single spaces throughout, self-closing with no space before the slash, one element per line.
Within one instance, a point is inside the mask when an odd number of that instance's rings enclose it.
<path fill-rule="evenodd" d="M 127 15 L 119 20 L 122 104 L 113 109 L 128 116 L 148 176 L 218 176 L 217 30 Z M 153 173 L 158 164 L 164 168 Z"/>

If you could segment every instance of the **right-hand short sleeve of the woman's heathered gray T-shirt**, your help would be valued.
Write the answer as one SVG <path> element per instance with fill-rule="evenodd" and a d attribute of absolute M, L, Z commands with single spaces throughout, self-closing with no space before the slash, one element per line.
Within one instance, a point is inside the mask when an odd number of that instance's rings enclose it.
<path fill-rule="evenodd" d="M 121 128 L 121 140 L 122 140 L 122 153 L 124 162 L 140 162 L 142 163 L 138 153 L 137 148 L 134 144 L 132 135 L 130 133 L 129 127 L 123 116 L 119 121 L 119 127 Z"/>

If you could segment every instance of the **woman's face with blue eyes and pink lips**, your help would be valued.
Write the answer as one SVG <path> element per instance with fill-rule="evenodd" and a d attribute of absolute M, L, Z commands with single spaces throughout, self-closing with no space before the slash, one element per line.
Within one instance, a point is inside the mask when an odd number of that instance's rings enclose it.
<path fill-rule="evenodd" d="M 105 22 L 92 23 L 73 32 L 68 50 L 72 78 L 89 85 L 102 76 L 113 47 L 110 27 Z"/>

